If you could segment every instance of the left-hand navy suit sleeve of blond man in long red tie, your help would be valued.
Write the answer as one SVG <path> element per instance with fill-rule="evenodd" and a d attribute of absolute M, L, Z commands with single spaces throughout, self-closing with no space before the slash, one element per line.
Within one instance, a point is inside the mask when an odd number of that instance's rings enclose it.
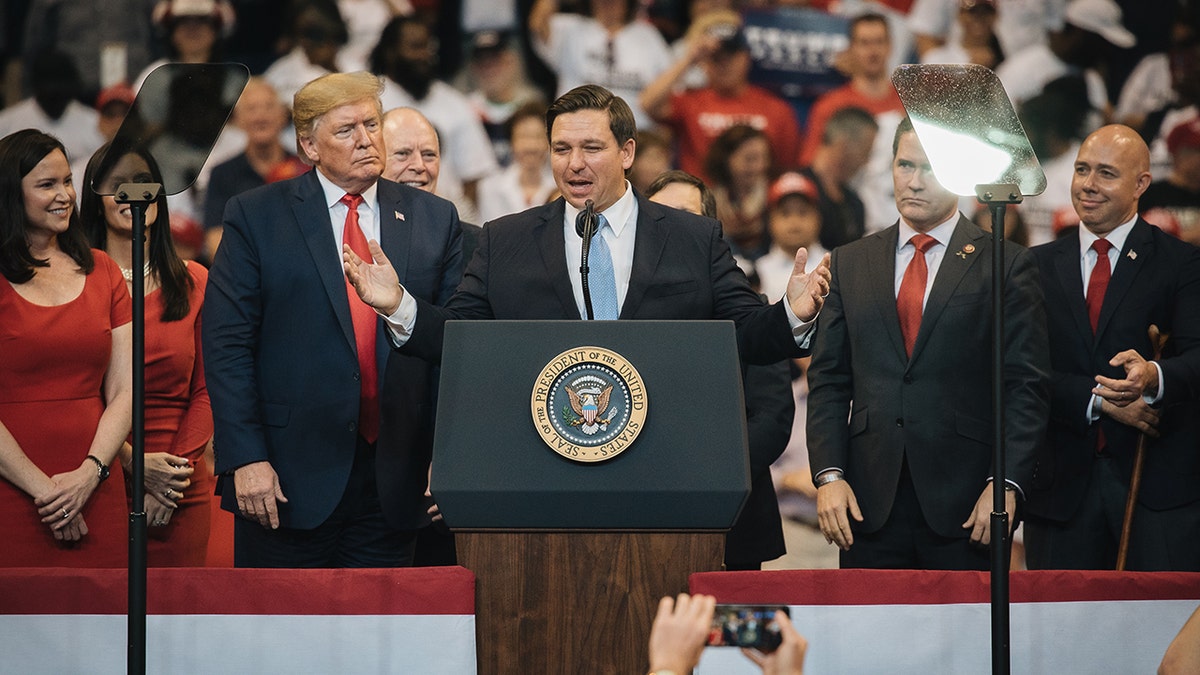
<path fill-rule="evenodd" d="M 262 322 L 259 256 L 234 198 L 204 295 L 204 374 L 212 402 L 216 473 L 268 460 L 254 345 Z"/>

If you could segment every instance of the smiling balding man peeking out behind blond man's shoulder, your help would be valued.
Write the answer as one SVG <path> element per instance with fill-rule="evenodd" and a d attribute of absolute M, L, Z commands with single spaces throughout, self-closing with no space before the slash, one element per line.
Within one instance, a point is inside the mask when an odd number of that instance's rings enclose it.
<path fill-rule="evenodd" d="M 442 173 L 442 142 L 438 130 L 416 108 L 392 108 L 383 115 L 383 142 L 386 148 L 383 177 L 430 195 L 438 191 Z M 479 241 L 479 226 L 460 222 L 462 259 L 470 262 Z"/>

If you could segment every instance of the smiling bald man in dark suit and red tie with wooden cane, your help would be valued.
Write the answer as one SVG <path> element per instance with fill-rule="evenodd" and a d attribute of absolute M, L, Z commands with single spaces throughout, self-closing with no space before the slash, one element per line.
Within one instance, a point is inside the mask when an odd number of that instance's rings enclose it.
<path fill-rule="evenodd" d="M 1034 569 L 1112 569 L 1138 436 L 1128 569 L 1200 572 L 1200 249 L 1138 216 L 1150 150 L 1122 125 L 1075 159 L 1075 234 L 1033 249 L 1054 370 L 1028 495 Z M 1170 334 L 1160 358 L 1147 329 Z M 1148 360 L 1154 359 L 1154 360 Z"/>

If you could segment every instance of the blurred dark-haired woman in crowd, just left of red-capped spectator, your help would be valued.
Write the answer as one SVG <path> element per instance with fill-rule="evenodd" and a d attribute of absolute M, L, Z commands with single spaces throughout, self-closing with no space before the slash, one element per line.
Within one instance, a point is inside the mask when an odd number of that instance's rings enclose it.
<path fill-rule="evenodd" d="M 704 173 L 716 197 L 716 216 L 733 256 L 746 274 L 770 250 L 767 186 L 774 174 L 770 142 L 762 131 L 734 125 L 713 139 Z"/>

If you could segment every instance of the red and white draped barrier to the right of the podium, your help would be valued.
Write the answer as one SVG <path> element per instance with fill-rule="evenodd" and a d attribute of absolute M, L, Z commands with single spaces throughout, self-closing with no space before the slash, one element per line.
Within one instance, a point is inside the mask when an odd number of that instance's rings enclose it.
<path fill-rule="evenodd" d="M 989 673 L 988 574 L 780 571 L 692 574 L 719 603 L 791 607 L 809 640 L 805 675 Z M 1154 673 L 1200 604 L 1200 574 L 1014 572 L 1013 673 Z M 709 647 L 698 675 L 761 673 L 739 650 Z"/>

